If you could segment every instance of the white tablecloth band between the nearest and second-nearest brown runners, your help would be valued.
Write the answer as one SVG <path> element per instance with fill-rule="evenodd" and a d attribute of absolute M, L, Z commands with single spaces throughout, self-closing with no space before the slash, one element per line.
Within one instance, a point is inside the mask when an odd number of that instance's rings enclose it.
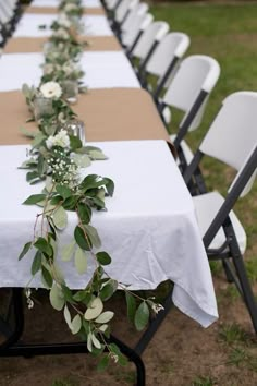
<path fill-rule="evenodd" d="M 0 59 L 0 92 L 21 89 L 24 83 L 38 86 L 41 63 L 42 53 L 3 55 Z M 84 52 L 79 63 L 85 71 L 83 82 L 89 88 L 140 87 L 123 51 Z"/>

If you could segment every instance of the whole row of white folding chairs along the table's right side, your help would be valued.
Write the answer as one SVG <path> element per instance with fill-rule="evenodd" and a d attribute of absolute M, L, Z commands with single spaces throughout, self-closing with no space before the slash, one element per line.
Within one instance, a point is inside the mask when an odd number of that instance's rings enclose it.
<path fill-rule="evenodd" d="M 247 277 L 243 255 L 246 233 L 233 207 L 245 196 L 257 173 L 257 93 L 237 92 L 228 96 L 195 154 L 184 141 L 197 129 L 211 91 L 220 75 L 219 63 L 204 55 L 183 59 L 189 37 L 170 32 L 164 22 L 154 21 L 147 3 L 139 0 L 103 0 L 113 31 L 132 61 L 144 88 L 148 89 L 167 125 L 170 108 L 184 112 L 171 140 L 179 167 L 192 193 L 196 216 L 209 260 L 222 262 L 229 282 L 234 282 L 249 312 L 257 334 L 257 303 Z M 156 76 L 152 87 L 149 77 Z M 200 171 L 204 156 L 236 170 L 223 197 L 209 192 Z"/>

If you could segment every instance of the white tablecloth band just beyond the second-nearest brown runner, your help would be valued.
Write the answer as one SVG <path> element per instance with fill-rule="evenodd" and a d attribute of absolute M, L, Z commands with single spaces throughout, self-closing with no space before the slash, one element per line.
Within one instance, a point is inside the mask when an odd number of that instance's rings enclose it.
<path fill-rule="evenodd" d="M 20 20 L 13 37 L 48 37 L 52 35 L 50 25 L 57 20 L 54 14 L 24 14 Z M 112 36 L 110 25 L 105 15 L 84 15 L 84 33 L 86 36 Z M 39 26 L 46 26 L 39 28 Z"/>

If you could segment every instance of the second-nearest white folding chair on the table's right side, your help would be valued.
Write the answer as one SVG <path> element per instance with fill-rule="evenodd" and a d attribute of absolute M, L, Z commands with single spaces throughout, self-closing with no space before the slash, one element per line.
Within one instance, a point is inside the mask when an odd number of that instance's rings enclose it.
<path fill-rule="evenodd" d="M 188 131 L 196 130 L 200 125 L 209 95 L 219 75 L 220 65 L 213 58 L 204 55 L 189 56 L 180 63 L 159 104 L 161 114 L 168 106 L 184 112 L 178 133 L 171 135 L 182 170 L 193 158 L 193 153 L 184 137 Z M 164 120 L 163 116 L 162 118 Z"/>

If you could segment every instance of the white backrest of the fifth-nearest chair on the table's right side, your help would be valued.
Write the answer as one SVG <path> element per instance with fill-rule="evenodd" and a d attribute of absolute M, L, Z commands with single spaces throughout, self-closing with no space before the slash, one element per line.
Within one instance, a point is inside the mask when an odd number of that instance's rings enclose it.
<path fill-rule="evenodd" d="M 152 21 L 154 16 L 150 13 L 136 14 L 131 28 L 122 35 L 122 44 L 127 48 L 127 51 L 131 51 L 135 47 L 144 31 Z"/>

